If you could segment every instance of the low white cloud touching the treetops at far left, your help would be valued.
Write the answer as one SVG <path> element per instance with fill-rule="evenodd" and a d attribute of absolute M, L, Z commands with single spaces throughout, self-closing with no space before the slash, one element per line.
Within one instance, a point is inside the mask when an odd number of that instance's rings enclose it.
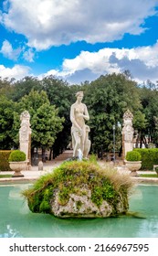
<path fill-rule="evenodd" d="M 15 78 L 16 80 L 20 80 L 27 75 L 29 75 L 29 68 L 26 66 L 15 65 L 12 69 L 5 68 L 4 65 L 0 65 L 0 74 L 1 78 Z"/>

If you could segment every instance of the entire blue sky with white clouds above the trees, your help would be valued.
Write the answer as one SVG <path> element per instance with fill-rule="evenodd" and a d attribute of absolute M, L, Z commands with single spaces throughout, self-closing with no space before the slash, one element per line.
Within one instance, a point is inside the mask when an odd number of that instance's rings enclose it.
<path fill-rule="evenodd" d="M 0 77 L 158 80 L 158 0 L 0 0 Z"/>

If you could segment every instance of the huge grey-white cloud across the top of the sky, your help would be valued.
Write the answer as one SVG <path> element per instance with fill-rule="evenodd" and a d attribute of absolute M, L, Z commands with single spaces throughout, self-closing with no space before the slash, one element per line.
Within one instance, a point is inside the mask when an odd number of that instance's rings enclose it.
<path fill-rule="evenodd" d="M 1 22 L 38 50 L 78 40 L 90 43 L 137 35 L 157 0 L 7 0 Z M 8 5 L 10 4 L 10 5 Z M 6 7 L 5 7 L 6 8 Z"/>

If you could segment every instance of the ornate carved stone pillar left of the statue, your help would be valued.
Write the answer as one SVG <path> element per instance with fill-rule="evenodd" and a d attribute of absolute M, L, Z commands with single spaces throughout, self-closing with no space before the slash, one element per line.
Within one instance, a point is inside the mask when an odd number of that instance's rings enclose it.
<path fill-rule="evenodd" d="M 19 130 L 19 144 L 20 150 L 26 154 L 26 161 L 30 165 L 31 157 L 31 128 L 30 128 L 30 114 L 25 111 L 20 115 L 20 130 Z"/>

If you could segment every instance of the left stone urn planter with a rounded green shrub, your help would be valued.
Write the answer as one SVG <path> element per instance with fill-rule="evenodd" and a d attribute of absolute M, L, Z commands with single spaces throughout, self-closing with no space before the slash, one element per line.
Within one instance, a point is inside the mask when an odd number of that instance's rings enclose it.
<path fill-rule="evenodd" d="M 21 171 L 26 169 L 26 154 L 23 151 L 12 151 L 8 161 L 10 168 L 15 171 L 13 177 L 24 176 L 21 174 Z"/>

